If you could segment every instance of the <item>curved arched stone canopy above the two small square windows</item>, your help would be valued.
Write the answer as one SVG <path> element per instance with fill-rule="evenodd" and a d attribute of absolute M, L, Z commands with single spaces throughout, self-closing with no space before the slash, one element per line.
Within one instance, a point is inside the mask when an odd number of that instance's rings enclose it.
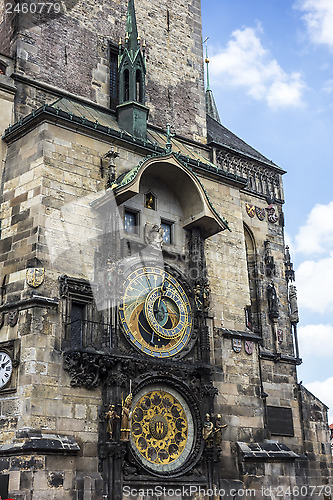
<path fill-rule="evenodd" d="M 159 178 L 178 198 L 184 213 L 184 229 L 199 227 L 202 236 L 208 238 L 228 228 L 227 222 L 212 206 L 198 177 L 173 154 L 144 160 L 122 176 L 112 192 L 94 202 L 94 208 L 104 209 L 114 196 L 118 205 L 133 198 L 140 193 L 142 179 L 150 175 Z"/>

